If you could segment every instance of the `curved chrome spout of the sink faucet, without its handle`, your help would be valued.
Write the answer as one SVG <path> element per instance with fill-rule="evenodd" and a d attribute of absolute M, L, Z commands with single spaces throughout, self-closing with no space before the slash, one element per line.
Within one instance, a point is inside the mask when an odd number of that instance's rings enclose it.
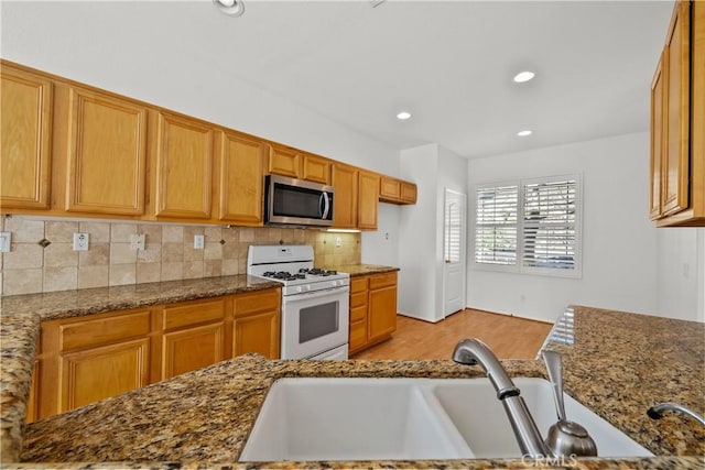
<path fill-rule="evenodd" d="M 511 381 L 497 356 L 487 345 L 477 338 L 464 339 L 453 351 L 453 360 L 460 364 L 479 363 L 497 391 L 497 398 L 502 402 L 507 417 L 511 423 L 514 437 L 522 456 L 550 457 L 553 452 L 544 444 L 541 433 L 527 408 L 524 398 Z"/>

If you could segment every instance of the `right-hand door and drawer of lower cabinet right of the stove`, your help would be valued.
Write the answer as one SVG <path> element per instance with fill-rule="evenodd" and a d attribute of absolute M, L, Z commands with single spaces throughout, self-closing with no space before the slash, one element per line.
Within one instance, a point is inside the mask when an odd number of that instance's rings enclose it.
<path fill-rule="evenodd" d="M 368 325 L 370 342 L 397 329 L 397 273 L 370 276 Z"/>

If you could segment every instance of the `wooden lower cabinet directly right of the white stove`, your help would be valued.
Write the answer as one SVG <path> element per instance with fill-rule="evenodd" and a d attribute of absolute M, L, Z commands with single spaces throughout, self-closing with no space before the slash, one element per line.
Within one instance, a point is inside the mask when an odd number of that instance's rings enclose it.
<path fill-rule="evenodd" d="M 350 353 L 377 345 L 397 330 L 397 272 L 350 280 Z"/>

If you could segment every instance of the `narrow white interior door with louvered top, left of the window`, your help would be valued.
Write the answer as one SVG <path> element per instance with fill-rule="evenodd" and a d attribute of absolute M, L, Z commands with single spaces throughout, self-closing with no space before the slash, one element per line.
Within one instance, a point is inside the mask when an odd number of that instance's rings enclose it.
<path fill-rule="evenodd" d="M 445 190 L 443 222 L 443 315 L 465 308 L 465 199 L 463 193 Z"/>

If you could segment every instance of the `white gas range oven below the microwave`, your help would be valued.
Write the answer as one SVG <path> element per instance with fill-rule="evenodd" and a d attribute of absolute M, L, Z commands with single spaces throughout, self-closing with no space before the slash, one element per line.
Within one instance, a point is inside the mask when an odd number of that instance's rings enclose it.
<path fill-rule="evenodd" d="M 247 273 L 282 283 L 282 359 L 348 359 L 350 275 L 314 269 L 307 244 L 250 245 Z"/>

